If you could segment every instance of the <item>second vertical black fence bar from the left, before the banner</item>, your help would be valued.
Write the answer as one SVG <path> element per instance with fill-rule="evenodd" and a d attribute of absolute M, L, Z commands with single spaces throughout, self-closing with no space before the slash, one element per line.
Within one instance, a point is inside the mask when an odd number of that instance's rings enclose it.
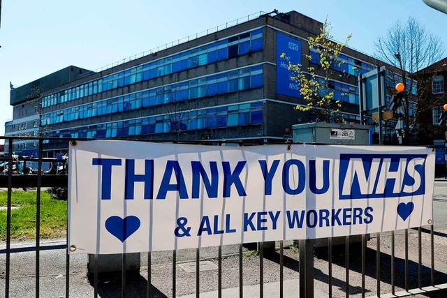
<path fill-rule="evenodd" d="M 36 192 L 36 297 L 39 297 L 41 281 L 41 186 L 42 186 L 42 156 L 43 140 L 39 140 L 39 156 L 37 165 L 37 192 Z M 16 165 L 17 174 L 19 165 Z M 27 169 L 23 168 L 24 172 Z"/>

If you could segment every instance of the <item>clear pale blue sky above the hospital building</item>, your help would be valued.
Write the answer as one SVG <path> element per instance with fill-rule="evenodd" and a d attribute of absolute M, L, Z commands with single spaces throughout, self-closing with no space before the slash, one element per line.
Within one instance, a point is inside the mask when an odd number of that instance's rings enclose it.
<path fill-rule="evenodd" d="M 3 0 L 0 27 L 0 135 L 13 118 L 9 82 L 27 84 L 69 65 L 90 70 L 277 9 L 326 17 L 337 40 L 374 54 L 374 41 L 414 17 L 447 45 L 447 15 L 422 0 Z"/>

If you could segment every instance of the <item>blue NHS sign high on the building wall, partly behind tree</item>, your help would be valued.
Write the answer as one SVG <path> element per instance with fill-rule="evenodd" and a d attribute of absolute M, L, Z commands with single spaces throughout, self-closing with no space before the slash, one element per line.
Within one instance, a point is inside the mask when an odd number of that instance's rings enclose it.
<path fill-rule="evenodd" d="M 288 61 L 281 58 L 285 53 L 291 64 L 301 64 L 301 42 L 281 33 L 277 33 L 277 94 L 300 97 L 300 86 L 291 80 Z"/>

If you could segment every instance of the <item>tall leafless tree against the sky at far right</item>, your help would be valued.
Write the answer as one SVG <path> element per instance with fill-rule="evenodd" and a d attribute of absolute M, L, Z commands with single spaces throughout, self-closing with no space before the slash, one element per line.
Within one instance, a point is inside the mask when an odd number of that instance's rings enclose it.
<path fill-rule="evenodd" d="M 417 131 L 418 123 L 416 117 L 410 117 L 411 101 L 409 94 L 416 90 L 415 74 L 441 59 L 444 55 L 444 45 L 438 36 L 427 32 L 423 25 L 409 17 L 405 24 L 397 21 L 388 29 L 386 35 L 379 37 L 374 43 L 376 46 L 376 57 L 391 64 L 397 69 L 398 76 L 393 75 L 391 80 L 395 84 L 402 82 L 405 85 L 404 100 L 402 100 L 404 126 L 404 144 L 408 144 L 410 133 Z M 410 80 L 407 80 L 410 79 Z M 424 86 L 426 84 L 420 84 Z M 418 91 L 423 93 L 422 90 Z M 414 101 L 423 104 L 422 100 Z M 418 107 L 419 109 L 419 107 Z M 416 111 L 414 111 L 416 112 Z"/>

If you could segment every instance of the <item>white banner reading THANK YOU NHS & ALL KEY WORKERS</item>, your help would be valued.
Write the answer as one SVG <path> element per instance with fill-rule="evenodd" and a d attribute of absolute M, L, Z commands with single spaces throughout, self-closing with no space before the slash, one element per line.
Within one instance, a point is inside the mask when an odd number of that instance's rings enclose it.
<path fill-rule="evenodd" d="M 426 147 L 70 147 L 71 253 L 314 239 L 432 223 Z"/>

